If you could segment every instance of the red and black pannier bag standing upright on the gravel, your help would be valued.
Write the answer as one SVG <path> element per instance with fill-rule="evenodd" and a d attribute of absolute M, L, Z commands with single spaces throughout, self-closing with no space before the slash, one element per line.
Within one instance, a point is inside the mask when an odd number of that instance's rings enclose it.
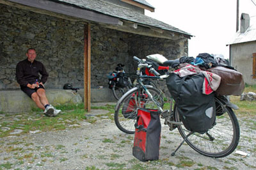
<path fill-rule="evenodd" d="M 132 155 L 141 161 L 158 160 L 161 139 L 159 111 L 138 109 Z"/>

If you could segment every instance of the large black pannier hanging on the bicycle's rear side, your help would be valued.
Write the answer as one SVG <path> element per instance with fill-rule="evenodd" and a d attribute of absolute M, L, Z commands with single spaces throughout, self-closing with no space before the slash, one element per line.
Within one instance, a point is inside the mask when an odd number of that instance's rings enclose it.
<path fill-rule="evenodd" d="M 214 125 L 216 118 L 214 93 L 203 94 L 203 83 L 203 73 L 186 77 L 170 73 L 166 79 L 182 123 L 188 130 L 200 134 L 207 132 Z"/>

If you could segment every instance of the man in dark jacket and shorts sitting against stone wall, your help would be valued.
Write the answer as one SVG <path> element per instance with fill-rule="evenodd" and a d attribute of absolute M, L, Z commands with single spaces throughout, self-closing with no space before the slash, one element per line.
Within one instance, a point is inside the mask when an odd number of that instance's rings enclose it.
<path fill-rule="evenodd" d="M 55 109 L 49 104 L 45 95 L 44 83 L 48 73 L 40 61 L 36 61 L 36 50 L 29 48 L 26 52 L 28 58 L 20 61 L 16 66 L 16 78 L 20 89 L 24 91 L 36 105 L 44 110 L 46 116 L 56 116 L 61 110 Z M 39 73 L 42 75 L 41 79 Z"/>

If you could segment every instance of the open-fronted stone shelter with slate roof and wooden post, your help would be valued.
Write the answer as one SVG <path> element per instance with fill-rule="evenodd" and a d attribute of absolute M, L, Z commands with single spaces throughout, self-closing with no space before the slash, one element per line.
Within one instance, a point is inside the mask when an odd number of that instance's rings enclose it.
<path fill-rule="evenodd" d="M 154 11 L 144 0 L 0 0 L 0 91 L 19 89 L 15 66 L 29 47 L 49 72 L 47 89 L 69 82 L 88 94 L 108 87 L 106 75 L 118 63 L 135 73 L 132 56 L 187 56 L 191 35 L 145 9 Z"/>

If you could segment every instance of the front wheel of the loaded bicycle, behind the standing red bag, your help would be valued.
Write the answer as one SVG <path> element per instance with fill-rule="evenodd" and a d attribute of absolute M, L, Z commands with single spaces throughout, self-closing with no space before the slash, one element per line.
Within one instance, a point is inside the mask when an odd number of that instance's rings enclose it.
<path fill-rule="evenodd" d="M 159 105 L 163 106 L 163 93 L 156 88 L 152 88 L 152 86 L 146 86 L 148 91 L 152 94 L 154 97 L 154 100 L 156 100 Z M 149 97 L 141 97 L 140 104 L 138 102 L 135 102 L 136 94 L 138 94 L 138 87 L 130 89 L 125 95 L 118 100 L 115 108 L 115 124 L 116 127 L 118 127 L 122 132 L 125 132 L 127 134 L 134 134 L 135 128 L 134 123 L 136 123 L 137 118 L 137 108 L 143 107 L 146 109 L 157 109 L 156 104 L 153 103 L 153 101 Z M 144 93 L 144 89 L 141 89 L 141 94 Z M 129 111 L 127 111 L 129 109 Z"/>

